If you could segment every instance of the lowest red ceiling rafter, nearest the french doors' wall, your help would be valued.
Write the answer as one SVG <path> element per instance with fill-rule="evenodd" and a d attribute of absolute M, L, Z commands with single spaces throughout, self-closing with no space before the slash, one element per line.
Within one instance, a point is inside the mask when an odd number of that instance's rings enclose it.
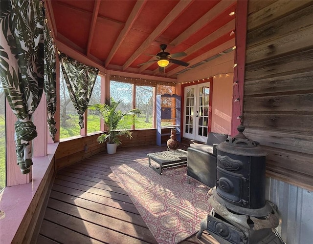
<path fill-rule="evenodd" d="M 209 51 L 207 51 L 206 53 L 203 53 L 202 55 L 198 56 L 197 58 L 194 58 L 193 60 L 189 61 L 190 63 L 190 66 L 196 64 L 196 63 L 199 63 L 201 61 L 204 61 L 208 58 L 211 58 L 213 57 L 214 55 L 217 55 L 231 47 L 233 47 L 235 45 L 235 38 L 229 40 L 229 41 L 226 41 L 224 42 L 223 44 L 221 44 L 220 46 L 217 46 Z M 166 73 L 166 76 L 167 77 L 171 77 L 172 75 L 180 72 L 181 70 L 185 69 L 185 67 L 183 66 L 179 66 L 171 71 L 169 71 L 168 73 Z"/>

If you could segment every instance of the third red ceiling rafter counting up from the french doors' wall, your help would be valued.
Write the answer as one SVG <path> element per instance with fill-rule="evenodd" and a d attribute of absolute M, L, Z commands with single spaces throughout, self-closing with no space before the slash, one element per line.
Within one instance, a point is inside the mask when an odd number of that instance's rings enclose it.
<path fill-rule="evenodd" d="M 211 20 L 215 19 L 225 8 L 231 7 L 236 4 L 237 0 L 231 1 L 220 1 L 213 8 L 206 12 L 199 20 L 194 22 L 191 26 L 189 26 L 183 33 L 181 33 L 177 38 L 175 38 L 169 45 L 177 46 L 181 42 L 188 39 L 192 34 L 199 31 L 204 25 L 208 24 Z M 149 61 L 153 61 L 154 58 L 151 58 Z M 153 63 L 147 63 L 142 65 L 139 68 L 139 72 L 143 72 L 145 69 L 149 68 Z"/>

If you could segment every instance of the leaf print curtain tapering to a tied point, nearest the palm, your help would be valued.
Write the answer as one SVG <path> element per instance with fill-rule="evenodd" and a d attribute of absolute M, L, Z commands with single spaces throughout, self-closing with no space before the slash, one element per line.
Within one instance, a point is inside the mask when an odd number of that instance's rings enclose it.
<path fill-rule="evenodd" d="M 59 53 L 64 80 L 69 97 L 79 115 L 79 126 L 84 128 L 84 113 L 87 109 L 99 69 L 78 62 L 64 53 Z"/>

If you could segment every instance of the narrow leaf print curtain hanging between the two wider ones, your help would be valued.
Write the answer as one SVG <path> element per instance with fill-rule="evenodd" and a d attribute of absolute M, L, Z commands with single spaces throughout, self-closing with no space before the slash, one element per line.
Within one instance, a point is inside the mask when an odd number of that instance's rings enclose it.
<path fill-rule="evenodd" d="M 49 27 L 45 22 L 45 96 L 47 100 L 48 126 L 50 136 L 54 141 L 57 128 L 55 127 L 54 114 L 56 111 L 56 56 L 53 40 L 49 33 Z"/>

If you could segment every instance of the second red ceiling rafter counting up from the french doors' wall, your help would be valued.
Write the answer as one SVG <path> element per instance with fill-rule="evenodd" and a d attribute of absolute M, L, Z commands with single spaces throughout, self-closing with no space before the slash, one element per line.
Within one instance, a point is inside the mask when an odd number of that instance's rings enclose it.
<path fill-rule="evenodd" d="M 190 55 L 190 54 L 198 51 L 202 47 L 208 45 L 210 42 L 212 42 L 212 41 L 214 41 L 214 40 L 224 36 L 227 33 L 230 33 L 232 30 L 235 29 L 235 24 L 236 24 L 236 20 L 235 19 L 229 21 L 227 24 L 223 25 L 221 28 L 217 29 L 216 31 L 214 31 L 210 35 L 206 36 L 201 41 L 198 41 L 196 44 L 192 45 L 191 47 L 186 49 L 184 52 L 187 55 Z M 179 57 L 178 60 L 183 59 L 183 58 L 184 57 Z M 169 68 L 172 65 L 173 65 L 172 63 L 169 63 L 169 65 L 167 65 L 166 67 Z M 154 75 L 156 75 L 158 73 L 160 73 L 158 68 L 153 71 Z"/>

